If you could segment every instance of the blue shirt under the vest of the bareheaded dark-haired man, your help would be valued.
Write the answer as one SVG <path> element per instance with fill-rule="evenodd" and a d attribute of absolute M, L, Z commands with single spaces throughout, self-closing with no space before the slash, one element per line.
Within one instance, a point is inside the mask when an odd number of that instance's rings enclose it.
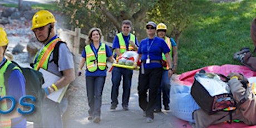
<path fill-rule="evenodd" d="M 125 35 L 122 33 L 122 37 L 123 37 L 124 40 L 125 40 L 126 50 L 128 50 L 128 48 L 129 48 L 129 41 L 130 41 L 130 33 L 129 33 L 128 36 L 125 36 Z M 139 47 L 138 40 L 137 40 L 137 37 L 136 37 L 136 36 L 135 36 L 135 45 L 136 45 L 137 47 Z M 118 39 L 117 36 L 115 36 L 114 41 L 113 41 L 113 43 L 112 43 L 112 49 L 115 50 L 115 48 L 120 48 L 120 43 L 119 43 L 119 39 Z M 115 53 L 115 56 L 114 56 L 114 57 L 116 58 L 116 53 Z"/>

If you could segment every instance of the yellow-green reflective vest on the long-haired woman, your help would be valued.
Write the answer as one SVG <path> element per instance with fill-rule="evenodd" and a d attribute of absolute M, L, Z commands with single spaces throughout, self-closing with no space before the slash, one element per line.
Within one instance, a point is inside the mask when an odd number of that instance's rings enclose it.
<path fill-rule="evenodd" d="M 86 67 L 90 72 L 94 72 L 99 68 L 100 70 L 106 69 L 106 45 L 101 43 L 99 51 L 97 52 L 98 57 L 96 58 L 94 52 L 92 51 L 91 45 L 85 46 L 86 51 Z"/>

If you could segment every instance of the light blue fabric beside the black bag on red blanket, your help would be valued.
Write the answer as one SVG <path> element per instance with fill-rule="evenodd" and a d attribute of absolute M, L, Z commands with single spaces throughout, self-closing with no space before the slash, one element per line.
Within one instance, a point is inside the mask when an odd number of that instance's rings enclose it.
<path fill-rule="evenodd" d="M 191 86 L 171 85 L 170 112 L 179 119 L 195 122 L 193 112 L 200 109 L 190 94 Z"/>

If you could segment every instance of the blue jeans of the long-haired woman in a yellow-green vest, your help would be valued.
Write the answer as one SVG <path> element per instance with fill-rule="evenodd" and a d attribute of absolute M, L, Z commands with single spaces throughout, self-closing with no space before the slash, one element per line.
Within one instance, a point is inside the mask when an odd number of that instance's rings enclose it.
<path fill-rule="evenodd" d="M 86 91 L 90 116 L 101 114 L 101 98 L 106 76 L 86 76 Z"/>

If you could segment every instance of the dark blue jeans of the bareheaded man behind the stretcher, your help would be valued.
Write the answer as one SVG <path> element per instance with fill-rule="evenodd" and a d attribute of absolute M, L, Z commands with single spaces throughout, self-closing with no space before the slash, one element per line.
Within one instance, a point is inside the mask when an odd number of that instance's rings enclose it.
<path fill-rule="evenodd" d="M 114 67 L 112 70 L 112 90 L 111 90 L 111 104 L 117 105 L 118 104 L 118 94 L 119 94 L 119 86 L 122 80 L 122 106 L 128 106 L 130 93 L 131 93 L 131 77 L 132 77 L 132 70 L 128 70 L 126 68 Z"/>

